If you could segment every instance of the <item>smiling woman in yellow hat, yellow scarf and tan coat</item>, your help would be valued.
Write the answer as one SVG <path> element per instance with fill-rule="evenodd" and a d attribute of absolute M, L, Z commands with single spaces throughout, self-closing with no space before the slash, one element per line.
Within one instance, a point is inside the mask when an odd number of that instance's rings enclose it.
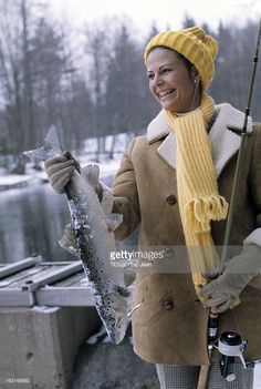
<path fill-rule="evenodd" d="M 161 111 L 146 135 L 127 146 L 113 185 L 114 212 L 124 215 L 117 240 L 140 224 L 139 246 L 186 246 L 189 255 L 191 274 L 161 268 L 137 272 L 135 280 L 134 350 L 156 364 L 160 388 L 197 387 L 199 367 L 209 364 L 208 308 L 220 313 L 220 332 L 248 339 L 246 359 L 261 354 L 260 125 L 249 123 L 244 183 L 229 242 L 243 245 L 242 250 L 229 258 L 221 275 L 209 277 L 218 266 L 215 246 L 223 242 L 240 144 L 231 129 L 243 124 L 241 112 L 230 104 L 215 105 L 206 94 L 217 50 L 215 39 L 198 27 L 163 32 L 148 42 L 149 90 Z M 74 170 L 63 156 L 48 161 L 45 168 L 58 192 Z M 108 195 L 104 185 L 102 195 Z M 228 383 L 216 360 L 213 355 L 208 388 L 252 387 L 252 371 L 239 365 L 236 381 Z"/>

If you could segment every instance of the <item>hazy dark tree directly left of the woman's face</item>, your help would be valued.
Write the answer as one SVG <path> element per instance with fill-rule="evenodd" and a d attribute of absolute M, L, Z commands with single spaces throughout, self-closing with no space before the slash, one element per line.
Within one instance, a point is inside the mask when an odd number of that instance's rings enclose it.
<path fill-rule="evenodd" d="M 106 110 L 115 133 L 140 133 L 158 111 L 149 96 L 143 47 L 132 37 L 126 24 L 118 28 L 108 65 Z"/>

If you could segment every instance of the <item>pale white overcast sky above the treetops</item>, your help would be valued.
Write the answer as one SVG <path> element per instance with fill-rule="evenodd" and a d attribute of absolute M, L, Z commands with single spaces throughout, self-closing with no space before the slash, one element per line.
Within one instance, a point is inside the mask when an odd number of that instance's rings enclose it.
<path fill-rule="evenodd" d="M 261 0 L 48 0 L 55 17 L 72 25 L 128 16 L 140 32 L 155 21 L 159 29 L 181 28 L 185 14 L 217 29 L 219 21 L 244 23 L 261 18 Z"/>

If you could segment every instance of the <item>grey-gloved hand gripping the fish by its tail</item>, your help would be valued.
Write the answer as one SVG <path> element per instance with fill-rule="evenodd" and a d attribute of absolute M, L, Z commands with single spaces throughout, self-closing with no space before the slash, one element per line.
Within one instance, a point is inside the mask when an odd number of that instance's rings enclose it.
<path fill-rule="evenodd" d="M 61 194 L 75 170 L 75 161 L 69 152 L 44 162 L 44 170 L 52 188 Z"/>

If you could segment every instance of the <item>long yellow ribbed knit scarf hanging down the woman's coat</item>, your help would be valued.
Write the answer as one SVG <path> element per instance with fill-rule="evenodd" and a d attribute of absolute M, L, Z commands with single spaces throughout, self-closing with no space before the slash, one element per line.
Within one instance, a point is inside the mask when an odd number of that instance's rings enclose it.
<path fill-rule="evenodd" d="M 213 101 L 203 94 L 200 109 L 177 116 L 164 111 L 177 136 L 177 187 L 179 212 L 189 254 L 196 293 L 207 284 L 202 272 L 219 264 L 210 234 L 210 222 L 227 217 L 228 203 L 218 193 L 207 125 L 215 112 Z"/>

